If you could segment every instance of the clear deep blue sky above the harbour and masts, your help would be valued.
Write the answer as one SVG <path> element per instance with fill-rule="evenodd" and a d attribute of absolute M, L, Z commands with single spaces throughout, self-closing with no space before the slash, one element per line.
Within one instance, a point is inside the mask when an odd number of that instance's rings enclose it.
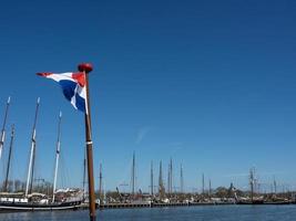
<path fill-rule="evenodd" d="M 61 109 L 60 186 L 81 186 L 83 114 L 34 73 L 91 62 L 95 178 L 102 161 L 106 189 L 130 182 L 133 150 L 144 190 L 150 161 L 163 160 L 166 176 L 170 157 L 187 190 L 201 188 L 202 172 L 213 187 L 246 187 L 252 166 L 264 183 L 275 175 L 294 186 L 295 11 L 293 0 L 2 2 L 0 116 L 10 95 L 13 177 L 25 178 L 40 96 L 37 176 L 52 179 Z"/>

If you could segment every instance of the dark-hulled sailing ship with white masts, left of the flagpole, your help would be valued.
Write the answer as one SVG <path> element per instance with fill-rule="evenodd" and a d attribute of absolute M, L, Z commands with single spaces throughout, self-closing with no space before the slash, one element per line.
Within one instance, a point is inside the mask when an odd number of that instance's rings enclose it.
<path fill-rule="evenodd" d="M 37 118 L 39 112 L 40 98 L 37 101 L 33 130 L 32 130 L 32 141 L 31 141 L 31 150 L 30 150 L 30 162 L 28 168 L 28 177 L 25 185 L 25 192 L 20 193 L 9 193 L 8 190 L 8 176 L 10 168 L 10 156 L 12 150 L 12 144 L 14 138 L 14 127 L 12 127 L 11 131 L 11 140 L 10 140 L 10 150 L 9 150 L 9 160 L 7 167 L 6 181 L 3 185 L 3 190 L 0 194 L 0 211 L 44 211 L 44 210 L 75 210 L 81 207 L 82 199 L 76 194 L 79 191 L 76 190 L 57 190 L 57 178 L 58 178 L 58 168 L 59 168 L 59 156 L 61 149 L 61 118 L 62 114 L 59 116 L 58 124 L 58 141 L 57 141 L 57 151 L 55 151 L 55 169 L 54 169 L 54 181 L 53 181 L 53 193 L 52 197 L 49 197 L 43 193 L 32 192 L 33 186 L 33 176 L 34 176 L 34 159 L 35 159 L 35 126 Z M 57 200 L 55 194 L 65 196 L 60 197 Z M 72 197 L 71 197 L 72 196 Z"/>

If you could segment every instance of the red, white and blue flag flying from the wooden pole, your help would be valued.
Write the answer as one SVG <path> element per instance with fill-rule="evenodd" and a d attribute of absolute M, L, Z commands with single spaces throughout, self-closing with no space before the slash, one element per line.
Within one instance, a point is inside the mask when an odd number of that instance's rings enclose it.
<path fill-rule="evenodd" d="M 62 87 L 64 97 L 71 102 L 75 109 L 88 114 L 85 74 L 78 73 L 38 73 L 40 76 L 52 78 Z"/>

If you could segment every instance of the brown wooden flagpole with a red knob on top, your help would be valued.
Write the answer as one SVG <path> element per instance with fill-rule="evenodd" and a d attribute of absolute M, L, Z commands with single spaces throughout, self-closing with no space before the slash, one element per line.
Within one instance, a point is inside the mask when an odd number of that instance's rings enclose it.
<path fill-rule="evenodd" d="M 93 155 L 92 155 L 92 134 L 91 134 L 91 108 L 90 108 L 90 90 L 89 90 L 89 73 L 92 71 L 92 65 L 83 63 L 78 66 L 80 72 L 85 74 L 86 87 L 86 113 L 85 113 L 85 141 L 86 141 L 86 162 L 89 177 L 89 209 L 90 220 L 95 221 L 95 196 L 94 196 L 94 179 L 93 179 Z"/>

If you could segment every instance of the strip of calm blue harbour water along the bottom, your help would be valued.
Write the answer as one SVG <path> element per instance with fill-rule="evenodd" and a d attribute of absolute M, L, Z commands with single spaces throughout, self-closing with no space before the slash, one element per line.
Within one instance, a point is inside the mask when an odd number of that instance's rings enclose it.
<path fill-rule="evenodd" d="M 98 221 L 292 221 L 296 206 L 216 206 L 112 209 L 98 211 Z M 86 210 L 0 213 L 0 221 L 88 221 Z"/>

